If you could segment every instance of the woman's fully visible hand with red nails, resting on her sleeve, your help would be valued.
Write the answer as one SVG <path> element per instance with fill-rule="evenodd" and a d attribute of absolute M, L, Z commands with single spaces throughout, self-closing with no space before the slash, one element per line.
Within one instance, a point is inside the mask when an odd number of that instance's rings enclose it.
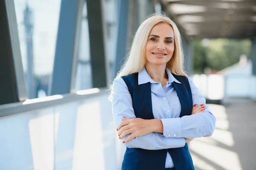
<path fill-rule="evenodd" d="M 118 136 L 119 139 L 122 139 L 126 135 L 130 134 L 123 143 L 129 142 L 131 139 L 134 139 L 137 136 L 144 136 L 148 133 L 151 133 L 150 120 L 147 119 L 128 119 L 126 117 L 122 118 L 123 121 L 118 125 Z"/>

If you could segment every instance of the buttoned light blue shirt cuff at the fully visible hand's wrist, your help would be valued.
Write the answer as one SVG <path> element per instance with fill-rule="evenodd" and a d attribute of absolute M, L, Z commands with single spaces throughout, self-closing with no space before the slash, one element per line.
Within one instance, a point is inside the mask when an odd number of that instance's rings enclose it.
<path fill-rule="evenodd" d="M 180 138 L 182 128 L 180 118 L 169 118 L 160 120 L 163 124 L 163 135 L 166 138 Z"/>

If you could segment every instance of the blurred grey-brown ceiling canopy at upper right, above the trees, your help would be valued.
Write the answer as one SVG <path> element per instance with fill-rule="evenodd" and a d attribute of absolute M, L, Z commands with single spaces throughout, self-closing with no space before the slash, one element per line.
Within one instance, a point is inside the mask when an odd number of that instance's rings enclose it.
<path fill-rule="evenodd" d="M 256 0 L 162 0 L 189 39 L 256 37 Z"/>

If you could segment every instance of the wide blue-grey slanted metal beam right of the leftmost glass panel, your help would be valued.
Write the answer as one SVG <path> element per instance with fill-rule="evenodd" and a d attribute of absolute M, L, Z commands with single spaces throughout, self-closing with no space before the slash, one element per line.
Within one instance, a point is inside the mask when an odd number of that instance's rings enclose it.
<path fill-rule="evenodd" d="M 62 0 L 54 66 L 48 95 L 70 93 L 76 73 L 76 58 L 84 0 Z"/>

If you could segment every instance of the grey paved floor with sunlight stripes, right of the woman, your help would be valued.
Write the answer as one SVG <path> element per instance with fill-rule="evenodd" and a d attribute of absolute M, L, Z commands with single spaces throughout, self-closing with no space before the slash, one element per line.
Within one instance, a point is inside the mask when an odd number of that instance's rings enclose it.
<path fill-rule="evenodd" d="M 256 170 L 256 102 L 232 99 L 209 108 L 217 119 L 213 135 L 189 143 L 196 170 Z"/>

